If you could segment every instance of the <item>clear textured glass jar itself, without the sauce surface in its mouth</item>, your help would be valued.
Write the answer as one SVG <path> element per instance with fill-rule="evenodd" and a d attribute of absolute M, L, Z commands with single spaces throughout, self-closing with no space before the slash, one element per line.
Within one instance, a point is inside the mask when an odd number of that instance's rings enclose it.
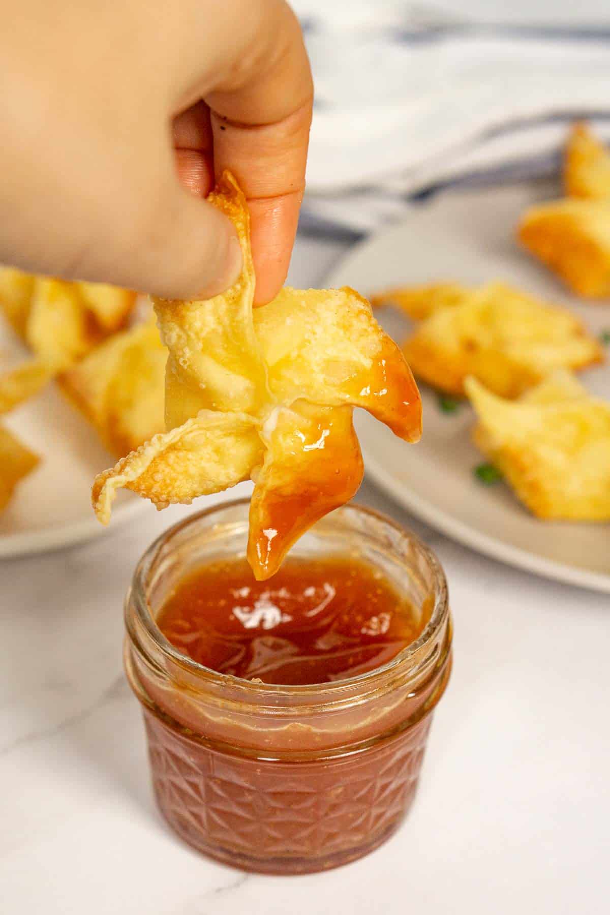
<path fill-rule="evenodd" d="M 277 686 L 216 673 L 175 649 L 155 615 L 212 559 L 244 555 L 248 502 L 201 511 L 144 554 L 126 599 L 125 669 L 144 708 L 155 797 L 199 851 L 246 870 L 337 867 L 384 842 L 409 809 L 451 668 L 444 574 L 412 533 L 347 505 L 291 555 L 376 566 L 421 614 L 391 662 L 333 683 Z"/>

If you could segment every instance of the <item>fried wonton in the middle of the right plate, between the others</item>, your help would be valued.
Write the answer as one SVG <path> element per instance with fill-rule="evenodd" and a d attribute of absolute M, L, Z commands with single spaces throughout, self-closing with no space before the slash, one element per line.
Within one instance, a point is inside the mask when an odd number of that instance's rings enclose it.
<path fill-rule="evenodd" d="M 417 377 L 458 395 L 468 375 L 516 397 L 554 369 L 604 359 L 599 341 L 569 311 L 503 283 L 465 289 L 462 304 L 434 312 L 403 349 Z"/>

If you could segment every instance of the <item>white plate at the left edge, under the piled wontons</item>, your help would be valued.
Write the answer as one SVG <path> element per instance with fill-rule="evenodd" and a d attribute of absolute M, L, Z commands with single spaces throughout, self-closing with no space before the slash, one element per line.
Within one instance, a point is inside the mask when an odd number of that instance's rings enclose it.
<path fill-rule="evenodd" d="M 0 329 L 0 366 L 26 359 L 27 352 L 4 324 Z M 0 557 L 40 553 L 85 541 L 107 528 L 91 508 L 96 473 L 116 458 L 102 447 L 85 419 L 54 384 L 0 422 L 40 456 L 38 467 L 23 479 L 0 514 Z M 112 511 L 112 528 L 142 511 L 146 502 L 121 493 Z"/>

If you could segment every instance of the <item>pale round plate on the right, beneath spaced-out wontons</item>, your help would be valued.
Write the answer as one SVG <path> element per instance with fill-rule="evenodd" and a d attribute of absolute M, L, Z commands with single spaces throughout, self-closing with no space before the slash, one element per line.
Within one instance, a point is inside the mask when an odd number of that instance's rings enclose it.
<path fill-rule="evenodd" d="M 594 333 L 610 329 L 610 304 L 583 304 L 519 251 L 513 230 L 536 199 L 559 196 L 538 185 L 446 193 L 413 207 L 400 225 L 362 242 L 327 277 L 331 286 L 352 285 L 364 294 L 388 285 L 503 279 L 573 308 Z M 390 309 L 379 314 L 396 339 L 408 324 Z M 609 352 L 610 356 L 610 352 Z M 610 368 L 580 375 L 594 393 L 610 399 Z M 610 592 L 610 525 L 540 522 L 504 483 L 486 487 L 473 477 L 484 458 L 472 445 L 473 413 L 439 410 L 423 388 L 422 441 L 405 446 L 358 411 L 357 427 L 368 473 L 407 509 L 455 540 L 531 572 Z"/>

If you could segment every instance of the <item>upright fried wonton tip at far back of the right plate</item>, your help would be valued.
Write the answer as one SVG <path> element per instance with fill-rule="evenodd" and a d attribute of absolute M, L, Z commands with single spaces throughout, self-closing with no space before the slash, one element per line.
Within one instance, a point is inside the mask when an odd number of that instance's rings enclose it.
<path fill-rule="evenodd" d="M 565 149 L 563 183 L 568 197 L 610 198 L 610 152 L 587 124 L 574 124 Z"/>

